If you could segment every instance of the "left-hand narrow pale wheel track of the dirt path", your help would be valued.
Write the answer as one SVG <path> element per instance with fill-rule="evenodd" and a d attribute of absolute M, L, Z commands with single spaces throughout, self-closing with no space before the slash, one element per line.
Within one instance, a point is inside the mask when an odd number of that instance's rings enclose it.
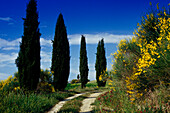
<path fill-rule="evenodd" d="M 80 95 L 82 95 L 82 94 L 85 94 L 85 93 L 76 94 L 76 95 L 74 95 L 74 96 L 72 96 L 72 97 L 66 98 L 66 99 L 63 100 L 63 101 L 60 101 L 58 104 L 56 104 L 56 105 L 55 105 L 50 111 L 48 111 L 47 113 L 57 113 L 57 112 L 60 110 L 60 108 L 63 107 L 63 105 L 64 105 L 67 101 L 69 101 L 69 100 L 71 100 L 71 99 L 73 99 L 73 98 L 76 98 L 76 97 L 78 97 L 78 96 L 80 96 Z"/>

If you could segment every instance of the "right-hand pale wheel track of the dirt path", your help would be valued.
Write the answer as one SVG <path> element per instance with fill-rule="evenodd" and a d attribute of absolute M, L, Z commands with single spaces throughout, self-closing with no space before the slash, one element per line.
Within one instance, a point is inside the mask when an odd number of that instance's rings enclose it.
<path fill-rule="evenodd" d="M 96 97 L 102 93 L 103 92 L 93 93 L 87 99 L 84 99 L 82 102 L 83 105 L 80 108 L 80 113 L 90 113 L 90 111 L 93 110 L 91 104 L 94 103 Z"/>

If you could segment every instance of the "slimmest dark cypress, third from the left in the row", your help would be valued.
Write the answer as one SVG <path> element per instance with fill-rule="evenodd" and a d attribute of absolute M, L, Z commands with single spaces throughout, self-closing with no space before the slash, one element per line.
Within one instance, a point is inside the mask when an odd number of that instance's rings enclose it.
<path fill-rule="evenodd" d="M 88 61 L 87 61 L 87 52 L 86 52 L 86 41 L 85 37 L 82 35 L 81 37 L 81 47 L 80 47 L 80 81 L 81 88 L 86 87 L 86 83 L 88 82 Z"/>

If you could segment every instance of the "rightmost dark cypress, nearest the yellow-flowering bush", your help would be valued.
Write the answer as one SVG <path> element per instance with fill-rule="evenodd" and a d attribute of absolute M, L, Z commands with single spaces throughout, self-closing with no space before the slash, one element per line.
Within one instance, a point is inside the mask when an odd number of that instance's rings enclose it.
<path fill-rule="evenodd" d="M 96 69 L 97 85 L 99 87 L 105 86 L 106 81 L 99 80 L 99 76 L 106 70 L 106 57 L 105 57 L 105 48 L 104 48 L 103 39 L 99 41 L 98 46 L 97 46 L 95 69 Z"/>

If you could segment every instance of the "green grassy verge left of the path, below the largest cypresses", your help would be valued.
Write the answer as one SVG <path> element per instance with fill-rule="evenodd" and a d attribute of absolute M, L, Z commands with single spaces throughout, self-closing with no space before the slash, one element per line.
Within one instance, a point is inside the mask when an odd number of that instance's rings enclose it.
<path fill-rule="evenodd" d="M 10 92 L 1 98 L 0 111 L 2 113 L 43 113 L 52 108 L 60 100 L 71 96 L 68 92 L 56 92 L 49 94 L 23 94 L 22 92 Z"/>

